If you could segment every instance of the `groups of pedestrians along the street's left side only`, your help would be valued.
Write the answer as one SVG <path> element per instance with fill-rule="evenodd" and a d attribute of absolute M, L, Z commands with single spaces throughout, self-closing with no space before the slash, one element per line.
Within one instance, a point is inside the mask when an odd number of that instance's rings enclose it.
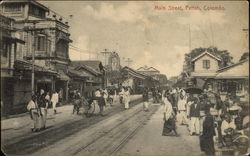
<path fill-rule="evenodd" d="M 98 114 L 104 116 L 105 107 L 109 104 L 113 106 L 117 93 L 119 95 L 120 103 L 124 105 L 125 110 L 129 109 L 130 103 L 130 88 L 121 87 L 120 90 L 100 88 L 96 89 L 91 98 L 86 98 L 81 95 L 79 90 L 74 90 L 71 94 L 71 101 L 73 104 L 73 114 L 79 114 L 80 108 L 85 107 L 84 114 L 92 115 L 96 110 L 99 110 Z M 60 91 L 53 93 L 45 92 L 44 89 L 32 95 L 31 100 L 27 105 L 27 110 L 30 113 L 30 117 L 33 121 L 33 132 L 38 132 L 46 128 L 46 119 L 48 114 L 48 108 L 52 108 L 54 114 L 57 114 L 56 107 L 62 101 L 60 100 Z M 96 107 L 99 107 L 97 109 Z"/>

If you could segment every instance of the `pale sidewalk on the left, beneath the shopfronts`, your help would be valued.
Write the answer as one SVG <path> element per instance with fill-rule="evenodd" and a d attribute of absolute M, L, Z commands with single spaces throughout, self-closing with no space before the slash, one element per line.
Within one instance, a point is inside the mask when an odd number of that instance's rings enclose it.
<path fill-rule="evenodd" d="M 131 101 L 139 99 L 141 95 L 132 95 Z M 120 105 L 118 99 L 114 101 L 114 105 Z M 106 109 L 110 109 L 108 105 Z M 57 114 L 54 115 L 53 109 L 48 109 L 47 127 L 55 127 L 56 125 L 71 123 L 81 120 L 83 115 L 72 114 L 73 105 L 64 105 L 57 107 Z M 35 135 L 31 133 L 33 122 L 29 113 L 20 114 L 17 117 L 1 120 L 1 141 L 9 142 L 15 138 L 21 139 L 27 135 Z"/>

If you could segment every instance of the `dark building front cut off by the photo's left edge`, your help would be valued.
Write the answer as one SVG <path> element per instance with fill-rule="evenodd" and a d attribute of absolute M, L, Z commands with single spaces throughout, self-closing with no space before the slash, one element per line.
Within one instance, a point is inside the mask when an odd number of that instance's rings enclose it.
<path fill-rule="evenodd" d="M 14 75 L 14 62 L 17 57 L 17 46 L 24 44 L 16 35 L 14 19 L 0 15 L 1 31 L 1 110 L 2 115 L 8 115 L 16 108 L 15 92 L 19 77 Z M 2 108 L 3 104 L 3 108 Z"/>

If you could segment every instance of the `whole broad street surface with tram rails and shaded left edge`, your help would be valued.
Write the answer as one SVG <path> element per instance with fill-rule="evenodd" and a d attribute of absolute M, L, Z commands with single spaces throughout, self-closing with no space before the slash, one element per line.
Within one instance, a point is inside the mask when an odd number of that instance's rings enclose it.
<path fill-rule="evenodd" d="M 116 104 L 114 108 L 106 110 L 105 117 L 92 118 L 72 116 L 71 110 L 65 107 L 68 113 L 65 110 L 63 113 L 70 118 L 65 122 L 65 119 L 56 117 L 63 123 L 56 124 L 54 121 L 53 126 L 40 133 L 26 132 L 26 135 L 10 137 L 7 133 L 10 130 L 3 131 L 2 136 L 8 135 L 8 139 L 2 137 L 5 139 L 2 148 L 10 155 L 32 156 L 41 153 L 53 156 L 201 154 L 198 137 L 189 136 L 186 126 L 177 123 L 178 137 L 161 135 L 161 104 L 152 104 L 151 101 L 149 112 L 143 111 L 141 102 L 131 106 L 129 110 L 124 110 L 120 104 Z"/>

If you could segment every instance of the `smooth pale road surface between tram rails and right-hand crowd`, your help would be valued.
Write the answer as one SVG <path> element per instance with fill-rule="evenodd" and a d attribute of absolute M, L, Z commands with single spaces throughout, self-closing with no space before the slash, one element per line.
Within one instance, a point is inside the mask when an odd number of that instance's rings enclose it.
<path fill-rule="evenodd" d="M 117 155 L 202 155 L 198 136 L 190 136 L 186 126 L 177 125 L 180 136 L 162 136 L 163 106 L 150 118 Z"/>

